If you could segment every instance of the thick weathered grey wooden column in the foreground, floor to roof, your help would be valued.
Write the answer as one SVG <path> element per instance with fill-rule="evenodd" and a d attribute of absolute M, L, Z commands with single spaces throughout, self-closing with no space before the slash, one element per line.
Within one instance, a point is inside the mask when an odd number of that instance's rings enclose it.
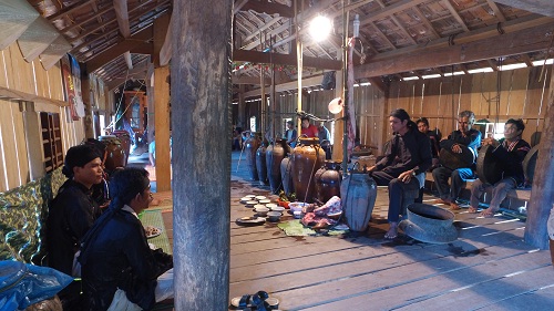
<path fill-rule="evenodd" d="M 173 4 L 175 310 L 229 303 L 232 13 L 232 0 Z"/>

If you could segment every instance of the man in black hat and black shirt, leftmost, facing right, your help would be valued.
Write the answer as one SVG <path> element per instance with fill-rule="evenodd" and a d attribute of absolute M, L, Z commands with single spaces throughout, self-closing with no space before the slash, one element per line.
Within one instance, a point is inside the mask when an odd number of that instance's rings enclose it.
<path fill-rule="evenodd" d="M 92 198 L 92 186 L 103 178 L 101 155 L 94 146 L 71 147 L 62 169 L 69 179 L 60 187 L 49 207 L 47 220 L 48 266 L 81 277 L 76 252 L 81 238 L 100 216 Z M 79 310 L 80 286 L 72 283 L 59 293 L 64 310 Z"/>

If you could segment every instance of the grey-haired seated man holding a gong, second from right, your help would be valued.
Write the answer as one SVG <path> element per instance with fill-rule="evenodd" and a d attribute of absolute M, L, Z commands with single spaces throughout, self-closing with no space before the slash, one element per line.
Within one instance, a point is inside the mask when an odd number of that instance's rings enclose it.
<path fill-rule="evenodd" d="M 476 155 L 476 148 L 481 145 L 481 132 L 471 128 L 475 123 L 475 115 L 471 111 L 463 111 L 458 116 L 460 129 L 452 132 L 448 138 L 441 141 L 441 148 L 450 149 L 453 153 L 461 154 L 460 145 L 466 146 Z M 473 164 L 475 166 L 475 164 Z M 451 209 L 460 209 L 456 204 L 458 196 L 462 190 L 463 183 L 474 178 L 474 167 L 462 167 L 450 169 L 448 167 L 437 167 L 433 169 L 434 184 L 439 190 L 440 199 L 435 204 L 449 205 Z M 451 185 L 449 186 L 449 178 Z"/>

